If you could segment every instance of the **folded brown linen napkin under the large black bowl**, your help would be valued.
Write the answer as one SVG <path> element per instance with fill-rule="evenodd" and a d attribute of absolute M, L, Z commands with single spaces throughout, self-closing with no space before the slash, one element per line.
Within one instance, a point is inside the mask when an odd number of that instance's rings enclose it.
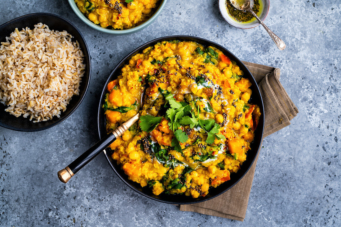
<path fill-rule="evenodd" d="M 280 69 L 250 62 L 243 63 L 255 78 L 262 94 L 265 137 L 289 125 L 298 110 L 279 82 Z M 243 221 L 248 207 L 258 155 L 246 175 L 230 190 L 206 202 L 180 205 L 180 210 Z"/>

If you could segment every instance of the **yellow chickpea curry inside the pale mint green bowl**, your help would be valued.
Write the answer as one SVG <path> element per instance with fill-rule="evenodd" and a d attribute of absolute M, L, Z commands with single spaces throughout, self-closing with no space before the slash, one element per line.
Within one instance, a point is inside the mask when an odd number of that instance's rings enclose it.
<path fill-rule="evenodd" d="M 158 0 L 75 0 L 89 20 L 103 28 L 128 29 L 146 21 Z"/>

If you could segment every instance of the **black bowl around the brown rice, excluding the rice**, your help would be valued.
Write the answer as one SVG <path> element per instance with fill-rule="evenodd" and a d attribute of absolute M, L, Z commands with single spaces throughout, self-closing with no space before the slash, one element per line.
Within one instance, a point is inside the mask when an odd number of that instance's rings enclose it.
<path fill-rule="evenodd" d="M 89 86 L 91 65 L 89 50 L 85 39 L 80 31 L 73 24 L 71 24 L 70 21 L 58 15 L 50 13 L 32 13 L 8 21 L 5 24 L 0 25 L 0 42 L 5 42 L 6 36 L 10 36 L 15 28 L 18 28 L 19 31 L 26 27 L 33 29 L 34 25 L 40 22 L 46 24 L 50 30 L 65 30 L 73 36 L 72 41 L 78 41 L 79 46 L 84 54 L 84 63 L 86 64 L 85 73 L 79 86 L 79 95 L 74 95 L 72 97 L 70 103 L 66 106 L 66 110 L 60 114 L 60 118 L 54 116 L 51 120 L 33 123 L 33 121 L 29 120 L 29 117 L 15 117 L 9 112 L 6 112 L 4 110 L 6 106 L 0 103 L 0 126 L 15 131 L 40 131 L 62 122 L 77 109 L 79 104 L 82 102 Z"/>

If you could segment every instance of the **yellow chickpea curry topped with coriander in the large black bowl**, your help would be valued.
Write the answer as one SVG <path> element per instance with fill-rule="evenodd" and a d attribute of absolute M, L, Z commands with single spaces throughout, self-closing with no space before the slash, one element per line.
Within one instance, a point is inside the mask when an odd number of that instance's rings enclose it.
<path fill-rule="evenodd" d="M 108 84 L 103 107 L 108 132 L 140 112 L 110 145 L 130 180 L 155 195 L 197 198 L 240 169 L 261 112 L 248 103 L 251 82 L 236 62 L 212 46 L 164 41 L 121 72 Z"/>

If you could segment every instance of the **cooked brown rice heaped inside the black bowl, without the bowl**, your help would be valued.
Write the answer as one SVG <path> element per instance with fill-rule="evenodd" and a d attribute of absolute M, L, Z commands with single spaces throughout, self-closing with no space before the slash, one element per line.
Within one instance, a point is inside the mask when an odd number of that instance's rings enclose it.
<path fill-rule="evenodd" d="M 66 31 L 39 23 L 16 28 L 0 46 L 0 102 L 5 111 L 33 122 L 60 117 L 85 72 L 79 43 Z"/>

